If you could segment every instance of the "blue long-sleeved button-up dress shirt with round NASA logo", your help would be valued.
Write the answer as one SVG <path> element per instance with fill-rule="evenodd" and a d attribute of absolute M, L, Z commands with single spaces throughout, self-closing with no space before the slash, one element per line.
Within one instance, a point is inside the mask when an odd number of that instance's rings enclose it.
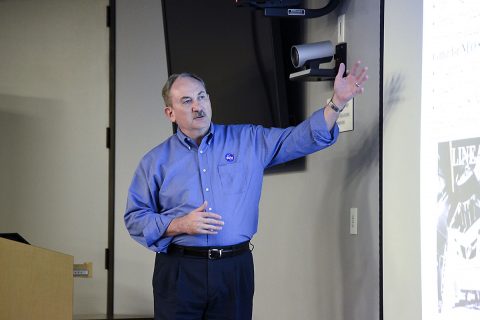
<path fill-rule="evenodd" d="M 257 231 L 263 171 L 326 148 L 338 126 L 327 129 L 323 109 L 296 127 L 210 126 L 199 146 L 180 130 L 148 152 L 138 165 L 127 199 L 125 224 L 133 239 L 155 252 L 170 243 L 224 246 L 250 240 Z M 222 216 L 216 235 L 164 236 L 175 217 L 208 202 Z"/>

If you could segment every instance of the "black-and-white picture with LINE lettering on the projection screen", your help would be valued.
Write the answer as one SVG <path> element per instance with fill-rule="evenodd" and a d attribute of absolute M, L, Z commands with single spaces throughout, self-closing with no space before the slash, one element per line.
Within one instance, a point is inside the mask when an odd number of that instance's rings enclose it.
<path fill-rule="evenodd" d="M 438 312 L 480 310 L 480 138 L 438 144 Z"/>

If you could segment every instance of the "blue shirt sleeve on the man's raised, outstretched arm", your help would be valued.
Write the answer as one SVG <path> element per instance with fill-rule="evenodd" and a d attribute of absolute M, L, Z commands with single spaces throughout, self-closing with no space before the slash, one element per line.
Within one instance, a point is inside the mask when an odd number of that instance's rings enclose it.
<path fill-rule="evenodd" d="M 263 156 L 266 168 L 327 148 L 337 141 L 339 135 L 336 123 L 328 130 L 324 108 L 315 111 L 295 127 L 257 127 L 257 130 L 261 130 L 261 134 L 256 134 L 257 154 Z"/>

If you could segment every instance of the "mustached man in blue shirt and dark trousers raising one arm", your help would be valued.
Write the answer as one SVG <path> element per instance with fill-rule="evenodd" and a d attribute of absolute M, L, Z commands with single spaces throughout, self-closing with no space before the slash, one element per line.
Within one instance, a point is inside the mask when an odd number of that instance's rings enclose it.
<path fill-rule="evenodd" d="M 360 62 L 344 71 L 327 106 L 286 129 L 212 124 L 203 80 L 167 80 L 165 115 L 178 130 L 141 160 L 125 213 L 130 235 L 157 252 L 155 319 L 251 319 L 263 171 L 336 141 L 340 112 L 368 78 Z"/>

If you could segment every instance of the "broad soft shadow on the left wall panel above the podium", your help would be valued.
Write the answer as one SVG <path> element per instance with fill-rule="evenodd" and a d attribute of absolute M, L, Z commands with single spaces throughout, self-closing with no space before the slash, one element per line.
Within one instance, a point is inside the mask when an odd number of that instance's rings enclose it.
<path fill-rule="evenodd" d="M 35 242 L 25 214 L 35 212 L 35 204 L 26 200 L 47 189 L 41 163 L 58 154 L 62 109 L 59 100 L 0 94 L 0 232 Z"/>

